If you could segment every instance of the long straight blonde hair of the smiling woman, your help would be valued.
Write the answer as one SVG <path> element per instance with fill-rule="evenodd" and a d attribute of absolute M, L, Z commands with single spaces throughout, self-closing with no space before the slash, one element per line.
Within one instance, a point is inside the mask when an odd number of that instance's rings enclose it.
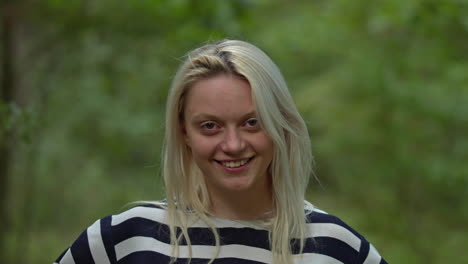
<path fill-rule="evenodd" d="M 185 240 L 192 256 L 187 228 L 193 219 L 211 228 L 219 253 L 219 235 L 209 218 L 207 187 L 182 132 L 187 91 L 194 83 L 219 74 L 238 76 L 249 83 L 257 118 L 273 141 L 270 244 L 273 263 L 292 263 L 292 247 L 302 250 L 306 233 L 304 194 L 312 173 L 309 134 L 277 66 L 262 50 L 238 40 L 223 40 L 189 52 L 172 82 L 166 109 L 163 175 L 173 255 L 179 255 L 178 245 Z M 291 245 L 291 241 L 297 244 Z M 210 263 L 214 258 L 216 255 Z"/>

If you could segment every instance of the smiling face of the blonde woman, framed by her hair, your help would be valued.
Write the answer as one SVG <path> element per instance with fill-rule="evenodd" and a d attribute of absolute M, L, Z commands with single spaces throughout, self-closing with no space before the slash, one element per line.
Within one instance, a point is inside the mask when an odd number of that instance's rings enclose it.
<path fill-rule="evenodd" d="M 270 192 L 273 143 L 260 126 L 247 81 L 217 75 L 189 88 L 183 133 L 210 193 Z"/>

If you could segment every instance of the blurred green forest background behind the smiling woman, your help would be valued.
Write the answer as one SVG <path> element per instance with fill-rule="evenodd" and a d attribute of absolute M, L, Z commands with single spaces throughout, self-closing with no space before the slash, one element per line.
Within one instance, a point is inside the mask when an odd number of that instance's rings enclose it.
<path fill-rule="evenodd" d="M 51 263 L 164 197 L 181 57 L 243 39 L 282 69 L 321 183 L 308 199 L 390 263 L 468 263 L 467 0 L 2 0 L 1 263 Z"/>

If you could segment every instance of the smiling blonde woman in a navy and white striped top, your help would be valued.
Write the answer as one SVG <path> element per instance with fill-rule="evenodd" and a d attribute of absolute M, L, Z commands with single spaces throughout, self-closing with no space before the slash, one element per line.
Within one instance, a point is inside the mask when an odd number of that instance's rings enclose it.
<path fill-rule="evenodd" d="M 190 52 L 167 101 L 167 200 L 98 220 L 58 263 L 386 263 L 304 201 L 306 125 L 271 59 L 225 40 Z"/>

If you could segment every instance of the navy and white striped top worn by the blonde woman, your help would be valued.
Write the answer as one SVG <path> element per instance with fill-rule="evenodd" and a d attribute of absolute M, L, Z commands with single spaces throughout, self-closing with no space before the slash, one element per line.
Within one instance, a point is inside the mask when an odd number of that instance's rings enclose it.
<path fill-rule="evenodd" d="M 221 238 L 215 264 L 272 262 L 268 231 L 259 222 L 212 220 Z M 169 263 L 172 248 L 167 224 L 167 211 L 154 205 L 104 217 L 84 231 L 55 263 Z M 207 263 L 215 255 L 212 232 L 202 221 L 188 232 L 191 263 Z M 386 263 L 363 236 L 337 217 L 317 209 L 307 215 L 307 237 L 303 252 L 294 254 L 296 264 Z M 182 241 L 175 263 L 187 263 L 188 256 L 188 246 Z"/>

